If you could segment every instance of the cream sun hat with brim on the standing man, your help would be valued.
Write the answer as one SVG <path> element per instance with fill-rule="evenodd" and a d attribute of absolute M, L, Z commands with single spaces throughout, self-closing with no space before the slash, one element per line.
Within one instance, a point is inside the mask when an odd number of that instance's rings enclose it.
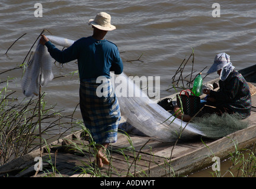
<path fill-rule="evenodd" d="M 88 25 L 93 25 L 95 28 L 104 31 L 112 31 L 116 29 L 114 25 L 111 25 L 111 17 L 106 12 L 100 12 L 94 19 L 89 19 Z"/>

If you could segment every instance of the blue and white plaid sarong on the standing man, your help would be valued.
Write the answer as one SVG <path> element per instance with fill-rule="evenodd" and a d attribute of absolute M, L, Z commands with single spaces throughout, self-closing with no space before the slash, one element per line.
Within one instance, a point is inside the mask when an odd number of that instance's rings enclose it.
<path fill-rule="evenodd" d="M 100 97 L 97 96 L 97 88 L 103 92 Z M 96 79 L 81 81 L 79 96 L 82 118 L 94 142 L 116 142 L 121 113 L 110 79 L 105 78 L 101 83 L 96 83 Z"/>

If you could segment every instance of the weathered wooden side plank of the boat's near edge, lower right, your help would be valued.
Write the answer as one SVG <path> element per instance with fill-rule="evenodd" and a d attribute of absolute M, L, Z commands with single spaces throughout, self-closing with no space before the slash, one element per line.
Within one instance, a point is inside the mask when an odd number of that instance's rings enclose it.
<path fill-rule="evenodd" d="M 184 174 L 186 171 L 192 169 L 202 168 L 212 161 L 212 155 L 217 154 L 220 158 L 226 157 L 231 152 L 230 149 L 234 147 L 233 141 L 238 144 L 242 144 L 250 139 L 256 137 L 256 125 L 250 126 L 248 129 L 232 133 L 227 137 L 223 137 L 219 140 L 211 142 L 208 146 L 204 146 L 200 149 L 194 150 L 181 157 L 172 159 L 172 170 L 178 175 Z M 228 150 L 229 149 L 229 150 Z M 162 167 L 164 164 L 160 164 Z M 159 169 L 160 165 L 151 168 L 151 172 L 154 173 L 152 177 L 162 177 L 166 174 L 165 170 Z M 147 170 L 145 170 L 147 171 Z"/>

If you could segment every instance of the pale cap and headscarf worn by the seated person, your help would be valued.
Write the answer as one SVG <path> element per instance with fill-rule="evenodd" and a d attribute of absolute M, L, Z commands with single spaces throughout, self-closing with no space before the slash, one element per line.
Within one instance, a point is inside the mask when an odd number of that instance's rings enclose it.
<path fill-rule="evenodd" d="M 214 63 L 212 67 L 207 71 L 207 74 L 216 72 L 220 69 L 220 80 L 224 81 L 227 79 L 229 74 L 233 71 L 235 67 L 232 66 L 232 63 L 230 61 L 230 56 L 226 53 L 219 53 L 215 56 Z"/>

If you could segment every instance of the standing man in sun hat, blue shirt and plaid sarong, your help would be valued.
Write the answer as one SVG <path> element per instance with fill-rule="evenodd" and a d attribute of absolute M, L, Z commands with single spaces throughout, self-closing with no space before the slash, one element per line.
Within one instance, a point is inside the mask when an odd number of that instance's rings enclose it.
<path fill-rule="evenodd" d="M 117 141 L 121 118 L 119 102 L 110 82 L 110 71 L 121 74 L 123 62 L 117 46 L 104 39 L 108 31 L 116 29 L 111 25 L 110 15 L 100 12 L 95 19 L 90 19 L 88 24 L 94 29 L 93 35 L 80 38 L 63 51 L 57 49 L 44 35 L 40 38 L 40 43 L 46 45 L 50 56 L 59 63 L 78 60 L 82 118 L 94 142 L 98 144 L 98 167 L 103 167 L 103 164 L 110 163 L 104 155 L 104 149 Z M 102 83 L 97 83 L 96 80 L 100 76 L 104 79 L 101 79 Z M 97 96 L 98 86 L 104 86 L 103 96 Z"/>

